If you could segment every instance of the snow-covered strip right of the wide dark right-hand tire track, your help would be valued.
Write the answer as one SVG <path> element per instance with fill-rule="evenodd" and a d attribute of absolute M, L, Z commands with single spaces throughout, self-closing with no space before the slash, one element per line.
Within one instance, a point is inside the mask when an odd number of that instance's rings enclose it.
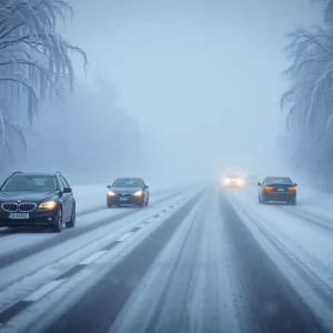
<path fill-rule="evenodd" d="M 244 193 L 243 193 L 244 194 Z M 312 194 L 310 190 L 307 194 Z M 333 325 L 332 229 L 293 214 L 301 206 L 261 205 L 253 198 L 228 194 L 243 223 L 303 301 L 326 324 Z"/>

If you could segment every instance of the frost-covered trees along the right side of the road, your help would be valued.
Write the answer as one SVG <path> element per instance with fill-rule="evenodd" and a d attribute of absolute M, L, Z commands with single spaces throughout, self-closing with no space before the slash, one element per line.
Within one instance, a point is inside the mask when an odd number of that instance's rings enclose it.
<path fill-rule="evenodd" d="M 304 174 L 315 174 L 316 184 L 332 190 L 333 0 L 314 2 L 323 7 L 322 24 L 287 34 L 285 52 L 291 65 L 285 75 L 290 89 L 281 107 L 287 112 L 293 165 Z"/>

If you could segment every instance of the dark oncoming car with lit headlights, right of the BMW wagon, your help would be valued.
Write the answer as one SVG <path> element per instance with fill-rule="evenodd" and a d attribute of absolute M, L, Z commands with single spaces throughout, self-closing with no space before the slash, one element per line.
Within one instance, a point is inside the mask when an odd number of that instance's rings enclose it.
<path fill-rule="evenodd" d="M 149 186 L 141 178 L 119 178 L 112 185 L 107 186 L 107 205 L 139 205 L 149 204 Z"/>

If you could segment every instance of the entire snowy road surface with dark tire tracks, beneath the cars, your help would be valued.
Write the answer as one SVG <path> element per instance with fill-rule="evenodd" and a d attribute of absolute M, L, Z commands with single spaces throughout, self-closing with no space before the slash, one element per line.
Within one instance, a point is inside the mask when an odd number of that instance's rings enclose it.
<path fill-rule="evenodd" d="M 256 191 L 81 189 L 73 230 L 0 230 L 0 332 L 333 332 L 333 196 Z"/>

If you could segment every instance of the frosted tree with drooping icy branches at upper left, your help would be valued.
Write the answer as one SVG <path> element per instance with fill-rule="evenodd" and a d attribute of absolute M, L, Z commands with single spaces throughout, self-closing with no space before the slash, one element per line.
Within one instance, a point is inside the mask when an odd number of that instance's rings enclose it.
<path fill-rule="evenodd" d="M 30 124 L 46 99 L 61 102 L 73 89 L 72 56 L 83 50 L 57 32 L 72 8 L 62 0 L 0 1 L 0 173 L 11 154 L 27 149 L 22 105 Z"/>

